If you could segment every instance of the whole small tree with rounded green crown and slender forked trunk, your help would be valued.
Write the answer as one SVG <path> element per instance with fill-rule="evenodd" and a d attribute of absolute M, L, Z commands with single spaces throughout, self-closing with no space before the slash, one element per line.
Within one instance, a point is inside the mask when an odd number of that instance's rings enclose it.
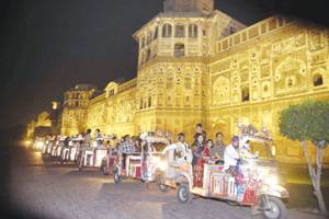
<path fill-rule="evenodd" d="M 325 148 L 329 142 L 329 102 L 308 100 L 282 111 L 280 131 L 290 139 L 300 141 L 319 210 L 321 214 L 328 215 L 320 182 Z M 315 166 L 307 149 L 307 141 L 316 147 Z"/>

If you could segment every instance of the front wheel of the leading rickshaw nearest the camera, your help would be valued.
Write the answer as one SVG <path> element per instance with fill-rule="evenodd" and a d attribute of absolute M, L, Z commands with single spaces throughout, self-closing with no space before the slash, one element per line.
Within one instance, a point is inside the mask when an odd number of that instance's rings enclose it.
<path fill-rule="evenodd" d="M 285 219 L 286 218 L 286 207 L 284 203 L 276 197 L 268 196 L 270 210 L 263 210 L 264 218 L 268 219 Z M 262 201 L 263 205 L 263 201 Z M 265 208 L 266 206 L 262 206 Z"/>

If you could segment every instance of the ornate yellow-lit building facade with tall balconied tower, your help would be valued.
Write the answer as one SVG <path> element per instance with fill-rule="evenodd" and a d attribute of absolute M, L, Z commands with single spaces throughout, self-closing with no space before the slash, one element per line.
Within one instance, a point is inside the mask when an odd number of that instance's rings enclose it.
<path fill-rule="evenodd" d="M 163 4 L 134 34 L 137 78 L 109 83 L 86 100 L 80 117 L 65 104 L 63 130 L 75 131 L 64 134 L 169 130 L 184 131 L 191 142 L 202 123 L 208 138 L 222 131 L 228 141 L 237 123 L 252 123 L 272 131 L 279 160 L 304 161 L 299 145 L 279 135 L 279 112 L 306 99 L 329 100 L 328 30 L 281 16 L 247 27 L 214 10 L 213 0 Z"/>

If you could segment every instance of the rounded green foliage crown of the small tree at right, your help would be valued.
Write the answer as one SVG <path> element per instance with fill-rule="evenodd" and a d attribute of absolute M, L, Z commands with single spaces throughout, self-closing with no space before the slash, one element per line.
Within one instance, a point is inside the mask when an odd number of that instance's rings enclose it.
<path fill-rule="evenodd" d="M 325 147 L 329 142 L 329 102 L 306 101 L 291 105 L 281 112 L 280 130 L 290 139 Z"/>

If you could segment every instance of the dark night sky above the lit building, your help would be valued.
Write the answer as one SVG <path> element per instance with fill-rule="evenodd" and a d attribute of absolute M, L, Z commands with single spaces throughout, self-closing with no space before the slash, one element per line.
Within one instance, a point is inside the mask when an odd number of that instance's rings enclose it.
<path fill-rule="evenodd" d="M 299 4 L 216 0 L 217 9 L 246 24 L 280 10 L 327 22 L 326 7 Z M 134 78 L 137 44 L 132 35 L 161 10 L 162 0 L 1 1 L 0 128 L 35 118 L 77 83 L 103 89 L 116 78 Z"/>

